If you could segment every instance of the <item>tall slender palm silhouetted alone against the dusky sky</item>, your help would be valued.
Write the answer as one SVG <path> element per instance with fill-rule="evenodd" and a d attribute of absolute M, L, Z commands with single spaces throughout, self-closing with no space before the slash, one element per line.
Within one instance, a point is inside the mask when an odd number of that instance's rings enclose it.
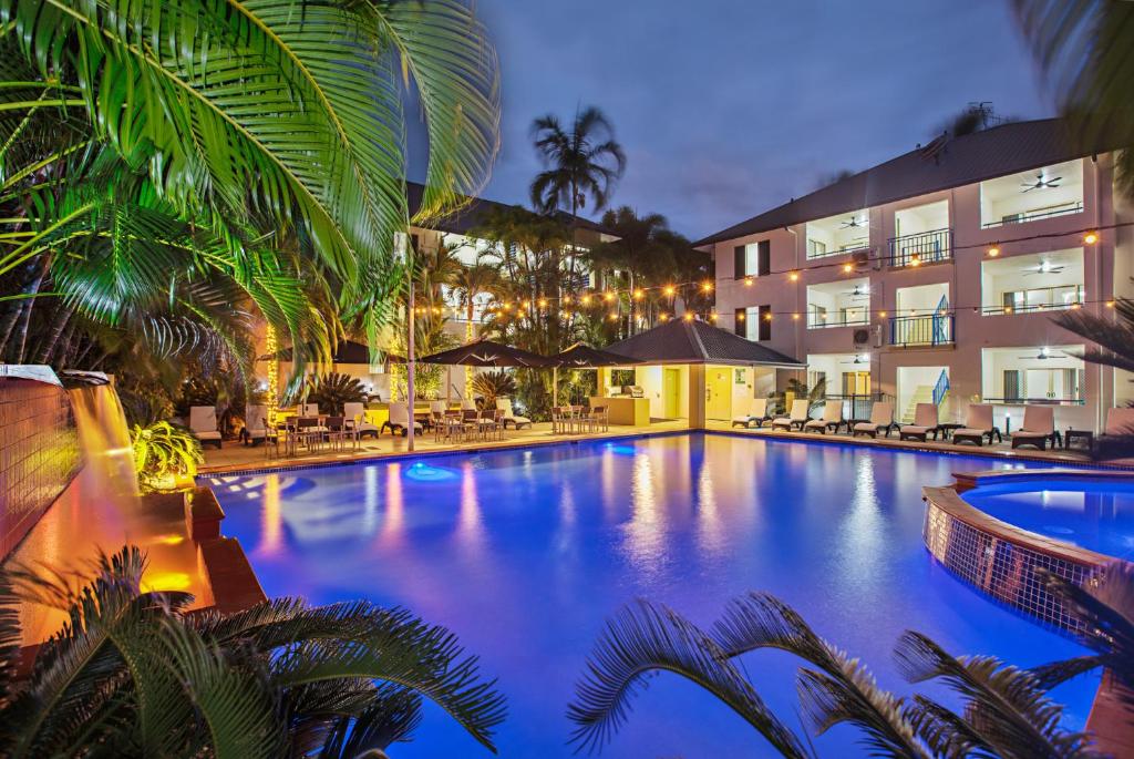
<path fill-rule="evenodd" d="M 532 206 L 542 213 L 570 209 L 572 275 L 578 210 L 590 197 L 592 209 L 601 211 L 626 171 L 626 155 L 613 134 L 607 116 L 594 106 L 575 112 L 570 130 L 565 130 L 552 113 L 532 123 L 535 150 L 547 167 L 532 182 Z"/>

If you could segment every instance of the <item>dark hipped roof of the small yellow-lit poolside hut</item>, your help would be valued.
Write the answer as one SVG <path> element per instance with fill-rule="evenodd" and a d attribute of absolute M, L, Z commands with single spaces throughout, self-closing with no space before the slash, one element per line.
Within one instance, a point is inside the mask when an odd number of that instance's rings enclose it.
<path fill-rule="evenodd" d="M 703 321 L 674 319 L 604 351 L 652 364 L 735 364 L 803 369 L 806 364 Z"/>

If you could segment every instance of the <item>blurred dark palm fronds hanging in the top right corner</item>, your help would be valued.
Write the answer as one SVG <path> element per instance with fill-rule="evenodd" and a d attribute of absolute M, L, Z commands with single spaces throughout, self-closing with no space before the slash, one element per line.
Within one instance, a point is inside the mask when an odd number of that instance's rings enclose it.
<path fill-rule="evenodd" d="M 1134 3 L 1013 2 L 1074 136 L 1088 152 L 1120 149 L 1116 179 L 1134 197 Z"/>

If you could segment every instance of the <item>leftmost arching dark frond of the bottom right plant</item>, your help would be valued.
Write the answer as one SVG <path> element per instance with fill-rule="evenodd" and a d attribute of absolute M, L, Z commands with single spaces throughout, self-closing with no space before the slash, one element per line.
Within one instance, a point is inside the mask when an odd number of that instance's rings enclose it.
<path fill-rule="evenodd" d="M 806 748 L 764 706 L 723 651 L 706 633 L 675 612 L 640 600 L 607 623 L 575 686 L 567 717 L 575 723 L 570 742 L 598 751 L 626 722 L 634 697 L 655 672 L 696 683 L 752 725 L 786 757 Z"/>

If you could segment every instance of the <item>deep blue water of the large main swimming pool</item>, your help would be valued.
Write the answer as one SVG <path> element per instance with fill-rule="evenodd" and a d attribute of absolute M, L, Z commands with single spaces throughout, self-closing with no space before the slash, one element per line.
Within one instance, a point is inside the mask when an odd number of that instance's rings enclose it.
<path fill-rule="evenodd" d="M 922 545 L 921 487 L 988 458 L 688 435 L 420 462 L 211 484 L 225 533 L 270 596 L 405 606 L 480 653 L 508 698 L 503 757 L 570 756 L 574 684 L 603 621 L 636 597 L 710 625 L 728 599 L 771 591 L 900 693 L 911 689 L 891 650 L 906 629 L 1022 666 L 1081 652 L 954 579 Z M 744 665 L 798 728 L 796 661 L 756 652 Z M 1095 684 L 1056 691 L 1069 726 L 1085 722 Z M 856 737 L 836 728 L 816 748 L 856 756 Z M 770 753 L 727 708 L 663 675 L 603 756 Z M 489 754 L 432 708 L 391 756 Z"/>

